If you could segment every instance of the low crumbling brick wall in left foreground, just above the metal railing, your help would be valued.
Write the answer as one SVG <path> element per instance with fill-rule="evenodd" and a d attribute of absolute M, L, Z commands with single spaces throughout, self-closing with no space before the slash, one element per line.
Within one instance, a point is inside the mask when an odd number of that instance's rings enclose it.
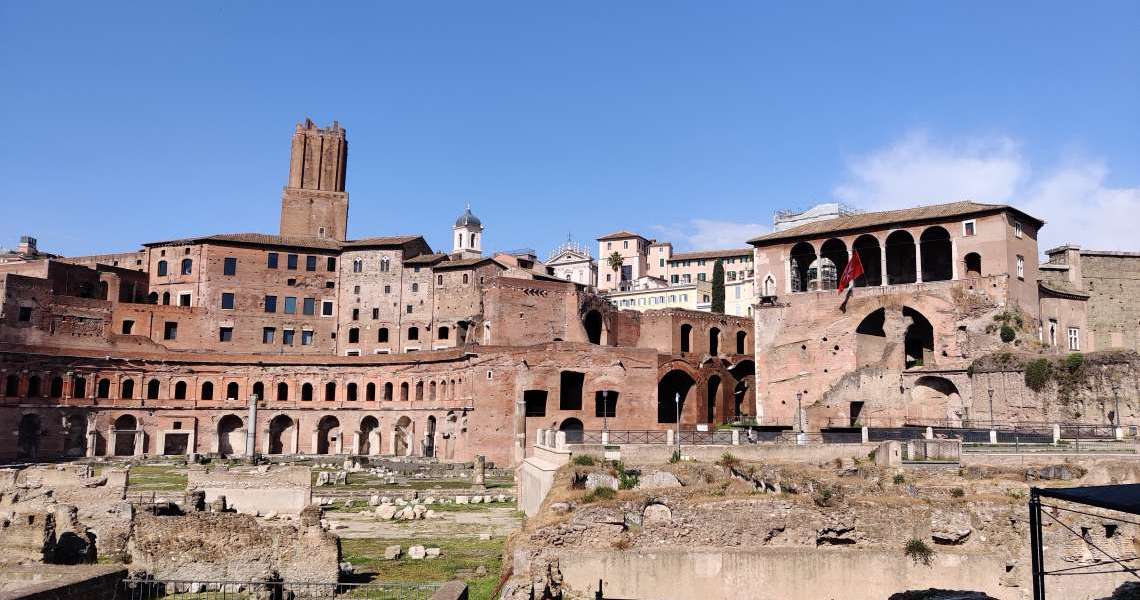
<path fill-rule="evenodd" d="M 340 541 L 319 525 L 249 514 L 136 514 L 131 566 L 156 578 L 335 582 Z"/>

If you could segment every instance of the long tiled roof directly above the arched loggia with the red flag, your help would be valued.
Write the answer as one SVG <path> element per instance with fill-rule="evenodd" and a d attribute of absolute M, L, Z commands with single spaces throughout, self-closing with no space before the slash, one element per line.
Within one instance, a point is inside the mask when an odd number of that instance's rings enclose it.
<path fill-rule="evenodd" d="M 931 204 L 928 206 L 915 206 L 913 209 L 889 210 L 882 212 L 860 212 L 847 217 L 836 217 L 823 221 L 808 222 L 799 227 L 792 227 L 783 232 L 773 232 L 748 241 L 752 245 L 766 245 L 772 242 L 783 242 L 816 237 L 825 234 L 838 234 L 840 232 L 869 229 L 913 221 L 928 221 L 939 219 L 953 219 L 970 214 L 983 214 L 988 212 L 1000 212 L 1009 210 L 1032 220 L 1039 227 L 1044 221 L 1032 217 L 1008 204 L 983 204 L 979 202 L 951 202 L 948 204 Z"/>

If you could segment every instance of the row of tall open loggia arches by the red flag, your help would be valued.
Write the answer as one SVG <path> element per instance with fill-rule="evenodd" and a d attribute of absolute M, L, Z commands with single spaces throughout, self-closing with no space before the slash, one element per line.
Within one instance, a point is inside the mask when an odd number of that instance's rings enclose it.
<path fill-rule="evenodd" d="M 853 253 L 858 253 L 863 275 L 855 286 L 895 285 L 917 282 L 939 282 L 958 277 L 954 244 L 945 227 L 935 225 L 919 234 L 919 240 L 898 229 L 879 238 L 864 234 L 848 249 L 842 240 L 831 238 L 819 248 L 808 242 L 792 246 L 789 256 L 789 291 L 815 292 L 836 290 L 839 277 Z M 982 256 L 970 252 L 962 258 L 968 276 L 980 276 Z M 774 279 L 764 282 L 763 295 L 775 295 Z"/>

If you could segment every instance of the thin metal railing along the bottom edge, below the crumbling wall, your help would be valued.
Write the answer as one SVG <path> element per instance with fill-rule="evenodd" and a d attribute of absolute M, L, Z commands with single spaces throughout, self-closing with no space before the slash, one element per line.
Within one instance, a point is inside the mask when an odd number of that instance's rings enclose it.
<path fill-rule="evenodd" d="M 439 583 L 321 583 L 202 579 L 123 579 L 123 600 L 426 600 Z"/>

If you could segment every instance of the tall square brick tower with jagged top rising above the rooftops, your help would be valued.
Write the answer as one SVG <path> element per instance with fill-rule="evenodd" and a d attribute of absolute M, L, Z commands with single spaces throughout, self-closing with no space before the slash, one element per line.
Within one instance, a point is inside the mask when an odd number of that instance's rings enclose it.
<path fill-rule="evenodd" d="M 296 125 L 288 184 L 282 196 L 282 235 L 343 242 L 348 235 L 349 195 L 344 172 L 349 143 L 336 121 L 319 128 L 312 120 Z"/>

